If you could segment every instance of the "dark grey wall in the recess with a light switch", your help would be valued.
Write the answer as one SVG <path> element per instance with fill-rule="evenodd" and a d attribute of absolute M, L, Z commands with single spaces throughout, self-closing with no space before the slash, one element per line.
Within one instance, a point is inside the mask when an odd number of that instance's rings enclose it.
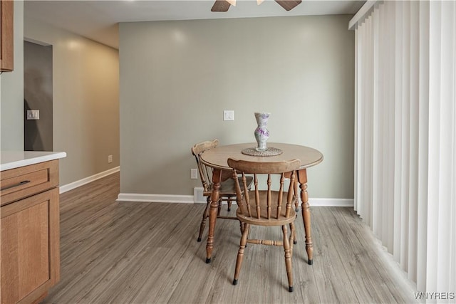
<path fill-rule="evenodd" d="M 27 110 L 39 110 L 39 120 Z M 53 151 L 52 124 L 52 46 L 24 41 L 24 150 Z"/>

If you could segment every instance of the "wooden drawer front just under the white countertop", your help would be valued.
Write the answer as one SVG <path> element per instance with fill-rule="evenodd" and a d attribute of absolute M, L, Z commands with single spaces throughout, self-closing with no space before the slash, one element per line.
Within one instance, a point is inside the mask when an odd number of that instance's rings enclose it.
<path fill-rule="evenodd" d="M 58 186 L 58 160 L 1 172 L 0 205 L 24 199 Z"/>

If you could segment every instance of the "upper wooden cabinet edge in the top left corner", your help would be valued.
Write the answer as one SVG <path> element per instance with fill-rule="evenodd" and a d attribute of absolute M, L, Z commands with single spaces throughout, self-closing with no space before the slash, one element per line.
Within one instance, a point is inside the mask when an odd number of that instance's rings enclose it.
<path fill-rule="evenodd" d="M 14 1 L 0 0 L 0 70 L 11 71 L 14 68 Z"/>

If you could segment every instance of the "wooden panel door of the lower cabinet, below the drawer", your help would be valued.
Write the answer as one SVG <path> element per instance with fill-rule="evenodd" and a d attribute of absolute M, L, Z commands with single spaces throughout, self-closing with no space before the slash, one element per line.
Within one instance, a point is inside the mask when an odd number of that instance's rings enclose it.
<path fill-rule="evenodd" d="M 31 303 L 58 281 L 58 188 L 1 207 L 1 303 Z"/>

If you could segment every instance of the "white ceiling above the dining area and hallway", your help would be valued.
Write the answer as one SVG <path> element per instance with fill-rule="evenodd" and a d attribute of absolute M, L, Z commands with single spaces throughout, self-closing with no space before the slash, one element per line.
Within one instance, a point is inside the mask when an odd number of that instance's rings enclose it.
<path fill-rule="evenodd" d="M 355 14 L 364 2 L 303 0 L 291 11 L 285 11 L 273 0 L 266 0 L 260 6 L 256 0 L 238 0 L 229 11 L 219 13 L 211 11 L 213 0 L 26 0 L 24 19 L 49 23 L 118 48 L 119 22 Z"/>

